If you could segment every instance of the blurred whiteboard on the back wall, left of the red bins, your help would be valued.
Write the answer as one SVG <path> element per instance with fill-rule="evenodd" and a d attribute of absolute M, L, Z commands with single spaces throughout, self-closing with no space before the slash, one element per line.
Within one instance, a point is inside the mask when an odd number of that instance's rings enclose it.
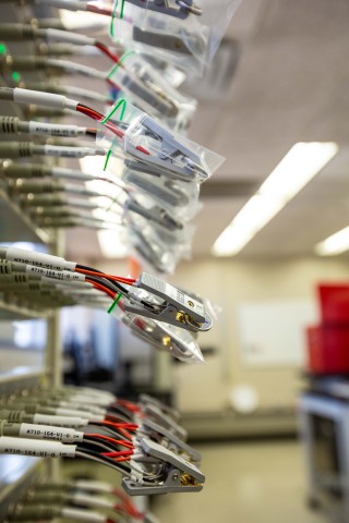
<path fill-rule="evenodd" d="M 250 302 L 238 306 L 239 351 L 253 367 L 303 366 L 305 328 L 317 323 L 310 299 Z"/>

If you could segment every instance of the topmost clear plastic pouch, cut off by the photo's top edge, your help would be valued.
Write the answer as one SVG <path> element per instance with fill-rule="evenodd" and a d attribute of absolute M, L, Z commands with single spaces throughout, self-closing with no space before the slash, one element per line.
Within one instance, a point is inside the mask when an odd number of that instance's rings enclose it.
<path fill-rule="evenodd" d="M 189 0 L 116 0 L 110 36 L 201 75 L 240 1 L 198 0 L 196 9 Z"/>

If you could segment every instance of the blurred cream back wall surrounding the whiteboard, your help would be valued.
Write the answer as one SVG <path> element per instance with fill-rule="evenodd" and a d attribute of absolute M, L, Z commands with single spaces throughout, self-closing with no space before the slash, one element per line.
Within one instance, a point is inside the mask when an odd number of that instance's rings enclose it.
<path fill-rule="evenodd" d="M 316 283 L 329 280 L 349 281 L 347 262 L 297 258 L 256 263 L 227 258 L 181 265 L 171 281 L 208 296 L 221 305 L 222 313 L 212 331 L 200 338 L 202 346 L 216 346 L 217 354 L 207 358 L 207 365 L 174 368 L 178 408 L 182 412 L 227 409 L 229 392 L 239 384 L 251 385 L 263 408 L 292 405 L 301 368 L 246 366 L 239 353 L 237 311 L 246 302 L 316 300 Z"/>

